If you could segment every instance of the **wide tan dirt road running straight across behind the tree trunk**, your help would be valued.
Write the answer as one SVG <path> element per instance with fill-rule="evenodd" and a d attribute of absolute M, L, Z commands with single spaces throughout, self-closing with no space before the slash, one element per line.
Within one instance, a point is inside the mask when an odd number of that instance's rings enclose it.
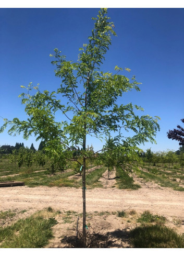
<path fill-rule="evenodd" d="M 82 190 L 80 188 L 28 186 L 1 187 L 0 210 L 38 209 L 51 206 L 60 210 L 82 212 Z M 149 209 L 165 217 L 183 217 L 183 192 L 170 188 L 143 187 L 136 191 L 117 188 L 95 188 L 87 190 L 87 212 L 102 212 L 135 209 L 138 212 Z"/>

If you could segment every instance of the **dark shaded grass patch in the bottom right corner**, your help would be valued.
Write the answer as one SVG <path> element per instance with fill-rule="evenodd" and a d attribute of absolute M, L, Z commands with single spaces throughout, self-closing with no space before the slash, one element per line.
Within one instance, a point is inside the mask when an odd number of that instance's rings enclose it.
<path fill-rule="evenodd" d="M 137 227 L 130 235 L 134 248 L 184 248 L 183 237 L 161 225 Z"/>

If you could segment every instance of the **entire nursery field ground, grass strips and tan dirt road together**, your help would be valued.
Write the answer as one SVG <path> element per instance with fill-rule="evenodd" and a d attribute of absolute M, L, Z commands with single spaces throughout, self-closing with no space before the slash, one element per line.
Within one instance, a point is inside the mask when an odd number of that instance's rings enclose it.
<path fill-rule="evenodd" d="M 0 248 L 80 247 L 81 175 L 34 166 L 19 171 L 8 162 L 0 167 L 0 182 L 25 183 L 0 187 Z M 114 168 L 108 179 L 105 166 L 92 166 L 86 181 L 89 248 L 184 247 L 181 169 L 132 165 Z"/>

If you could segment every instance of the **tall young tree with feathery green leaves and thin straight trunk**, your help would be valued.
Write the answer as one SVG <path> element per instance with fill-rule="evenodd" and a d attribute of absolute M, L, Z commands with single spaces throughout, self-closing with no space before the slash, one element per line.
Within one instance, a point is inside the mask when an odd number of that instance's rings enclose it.
<path fill-rule="evenodd" d="M 10 135 L 23 132 L 27 139 L 31 134 L 42 139 L 45 149 L 50 153 L 62 153 L 64 158 L 70 159 L 70 147 L 82 145 L 82 197 L 83 197 L 83 243 L 86 244 L 85 233 L 85 162 L 88 158 L 86 145 L 87 136 L 109 137 L 110 132 L 119 132 L 122 148 L 129 147 L 137 150 L 140 143 L 155 142 L 154 136 L 159 130 L 158 117 L 149 115 L 138 116 L 134 112 L 143 110 L 137 105 L 117 104 L 117 99 L 123 93 L 137 90 L 138 82 L 133 76 L 128 79 L 120 74 L 122 68 L 115 66 L 114 74 L 100 70 L 104 55 L 111 44 L 111 36 L 116 36 L 114 24 L 107 17 L 107 9 L 102 8 L 94 20 L 92 35 L 88 37 L 88 44 L 80 48 L 78 60 L 71 62 L 66 60 L 58 49 L 54 50 L 52 64 L 56 66 L 55 75 L 60 77 L 62 83 L 57 91 L 48 92 L 33 87 L 32 83 L 27 87 L 28 92 L 22 93 L 22 104 L 26 104 L 27 120 L 20 121 L 14 118 L 12 121 L 5 119 L 2 131 L 10 125 Z M 130 71 L 125 68 L 124 70 Z M 24 86 L 22 86 L 24 87 Z M 26 88 L 26 87 L 24 87 Z M 36 90 L 36 93 L 32 93 Z M 67 99 L 67 105 L 62 101 Z M 61 112 L 63 119 L 56 121 L 56 113 Z M 61 116 L 61 115 L 60 115 Z M 58 115 L 57 115 L 58 117 Z M 66 119 L 65 119 L 66 118 Z M 134 136 L 122 136 L 123 130 L 132 130 Z M 122 150 L 124 151 L 124 150 Z M 68 154 L 68 155 L 66 155 Z M 95 152 L 94 152 L 95 154 Z M 76 159 L 76 161 L 78 161 Z"/>

